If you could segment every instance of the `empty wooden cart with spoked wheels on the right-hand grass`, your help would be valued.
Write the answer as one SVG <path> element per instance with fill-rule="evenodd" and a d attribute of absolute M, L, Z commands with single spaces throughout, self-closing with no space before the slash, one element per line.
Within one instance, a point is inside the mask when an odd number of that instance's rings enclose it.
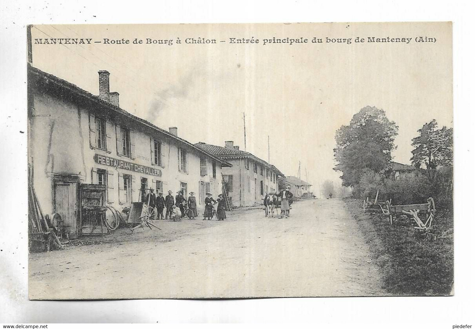
<path fill-rule="evenodd" d="M 417 226 L 414 226 L 414 234 L 424 235 L 427 239 L 436 240 L 436 235 L 431 232 L 434 226 L 434 216 L 436 213 L 436 205 L 433 198 L 428 198 L 427 203 L 418 204 L 399 204 L 391 205 L 388 201 L 385 206 L 381 206 L 384 215 L 388 217 L 388 222 L 392 225 L 398 215 L 405 214 L 412 216 Z M 424 214 L 425 219 L 422 220 L 419 214 Z"/>

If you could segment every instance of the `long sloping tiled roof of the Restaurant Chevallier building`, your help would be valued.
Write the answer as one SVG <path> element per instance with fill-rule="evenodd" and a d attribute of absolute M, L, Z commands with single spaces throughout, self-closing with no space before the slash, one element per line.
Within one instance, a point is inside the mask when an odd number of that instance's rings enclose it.
<path fill-rule="evenodd" d="M 33 77 L 38 78 L 38 80 L 37 81 L 32 81 Z M 40 78 L 42 78 L 43 81 L 39 81 Z M 154 130 L 157 130 L 157 131 L 161 132 L 162 134 L 167 135 L 168 137 L 170 137 L 172 139 L 180 141 L 181 143 L 186 144 L 186 145 L 192 147 L 193 149 L 197 150 L 199 153 L 203 153 L 203 154 L 208 155 L 209 157 L 217 160 L 223 166 L 228 166 L 228 167 L 232 166 L 231 164 L 229 164 L 224 159 L 218 158 L 217 156 L 213 155 L 212 153 L 209 153 L 206 150 L 203 150 L 202 148 L 196 147 L 196 145 L 190 143 L 189 141 L 187 141 L 183 138 L 180 138 L 178 136 L 172 135 L 172 134 L 170 134 L 169 131 L 167 131 L 165 129 L 162 129 L 160 127 L 157 127 L 154 124 L 152 124 L 151 122 L 149 122 L 147 120 L 144 120 L 144 119 L 142 119 L 138 116 L 134 116 L 133 114 L 130 114 L 129 112 L 123 110 L 122 108 L 120 108 L 118 106 L 114 106 L 110 103 L 107 103 L 107 102 L 103 101 L 102 99 L 100 99 L 98 96 L 95 96 L 95 95 L 91 94 L 90 92 L 85 91 L 84 89 L 82 89 L 80 87 L 77 87 L 75 84 L 72 84 L 71 82 L 63 80 L 63 79 L 61 79 L 59 77 L 56 77 L 52 74 L 43 72 L 42 70 L 40 70 L 38 68 L 34 68 L 30 64 L 28 64 L 28 83 L 33 83 L 34 86 L 36 86 L 36 87 L 38 87 L 38 84 L 47 85 L 47 84 L 50 84 L 50 83 L 55 83 L 58 87 L 61 87 L 66 92 L 72 93 L 72 94 L 74 94 L 76 96 L 79 96 L 79 97 L 85 97 L 91 102 L 94 102 L 94 103 L 99 104 L 100 106 L 103 106 L 103 107 L 105 107 L 109 110 L 112 110 L 112 111 L 120 113 L 124 116 L 127 116 L 128 118 L 130 118 L 130 119 L 132 119 L 132 120 L 134 120 L 138 123 L 141 123 L 142 125 L 148 126 L 148 127 L 152 128 Z"/>

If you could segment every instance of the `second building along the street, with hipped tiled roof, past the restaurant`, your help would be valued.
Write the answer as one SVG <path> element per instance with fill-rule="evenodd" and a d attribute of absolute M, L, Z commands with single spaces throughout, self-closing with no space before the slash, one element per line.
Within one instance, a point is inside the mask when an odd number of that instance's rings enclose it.
<path fill-rule="evenodd" d="M 223 167 L 222 172 L 233 206 L 260 204 L 266 193 L 278 192 L 279 177 L 284 177 L 284 174 L 274 165 L 239 150 L 233 141 L 226 141 L 224 147 L 203 142 L 195 145 L 232 164 Z"/>

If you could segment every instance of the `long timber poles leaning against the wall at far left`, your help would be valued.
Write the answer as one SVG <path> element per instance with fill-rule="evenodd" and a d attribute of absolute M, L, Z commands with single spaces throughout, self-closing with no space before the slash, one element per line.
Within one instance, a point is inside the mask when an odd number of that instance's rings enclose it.
<path fill-rule="evenodd" d="M 53 228 L 50 228 L 33 188 L 30 170 L 28 169 L 28 249 L 30 252 L 63 250 Z"/>

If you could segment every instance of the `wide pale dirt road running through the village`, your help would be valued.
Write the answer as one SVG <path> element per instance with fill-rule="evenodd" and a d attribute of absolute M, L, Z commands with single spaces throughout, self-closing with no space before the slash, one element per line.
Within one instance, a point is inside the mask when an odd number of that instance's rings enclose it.
<path fill-rule="evenodd" d="M 123 230 L 104 244 L 31 254 L 30 299 L 384 294 L 341 200 L 296 202 L 288 219 L 262 210 L 228 217 L 156 221 L 161 231 Z"/>

